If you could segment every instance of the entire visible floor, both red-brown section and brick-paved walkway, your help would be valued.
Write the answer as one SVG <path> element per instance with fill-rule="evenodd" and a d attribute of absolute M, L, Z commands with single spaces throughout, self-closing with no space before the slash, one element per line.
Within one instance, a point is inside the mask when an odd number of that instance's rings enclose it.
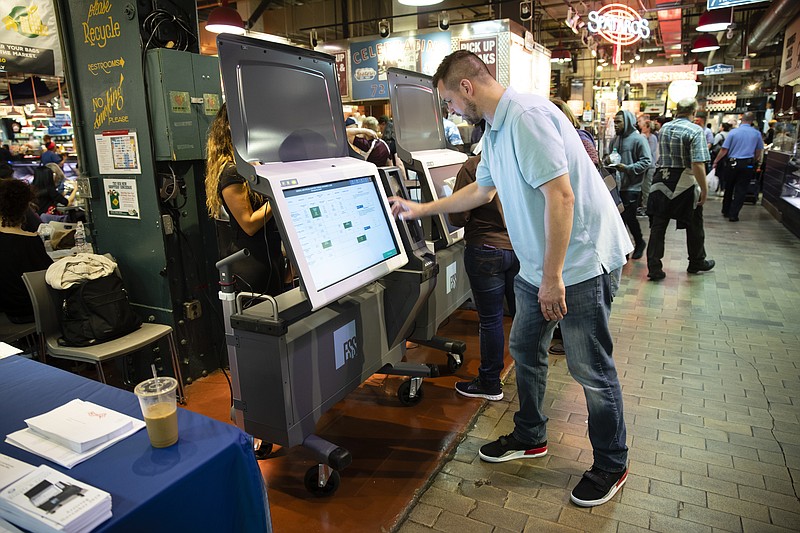
<path fill-rule="evenodd" d="M 800 239 L 760 206 L 745 206 L 738 223 L 718 213 L 714 198 L 705 226 L 712 272 L 686 273 L 685 233 L 672 230 L 666 280 L 646 281 L 643 260 L 624 271 L 611 325 L 630 475 L 611 502 L 569 503 L 591 448 L 582 391 L 553 357 L 547 456 L 477 457 L 513 428 L 513 372 L 504 401 L 460 398 L 449 376 L 426 381 L 411 408 L 398 407 L 396 383 L 375 378 L 320 424 L 354 457 L 334 497 L 304 491 L 313 461 L 302 449 L 261 463 L 275 531 L 800 531 Z M 474 345 L 461 376 L 476 372 L 476 327 L 473 312 L 459 311 L 443 328 Z M 189 395 L 190 408 L 227 416 L 221 376 Z"/>

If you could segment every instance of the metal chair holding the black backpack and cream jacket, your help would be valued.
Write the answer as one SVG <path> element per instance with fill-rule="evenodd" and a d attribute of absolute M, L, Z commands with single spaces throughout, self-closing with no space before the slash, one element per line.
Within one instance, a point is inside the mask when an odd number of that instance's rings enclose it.
<path fill-rule="evenodd" d="M 58 338 L 61 336 L 61 328 L 58 309 L 61 306 L 61 302 L 56 292 L 47 285 L 45 281 L 46 272 L 46 270 L 39 270 L 22 274 L 22 280 L 28 289 L 28 294 L 33 304 L 36 331 L 42 338 L 44 349 L 42 353 L 47 353 L 59 359 L 94 363 L 100 381 L 105 383 L 103 361 L 127 355 L 156 342 L 162 337 L 167 337 L 169 339 L 169 351 L 172 356 L 172 369 L 175 372 L 175 379 L 178 380 L 178 401 L 184 403 L 185 395 L 180 361 L 178 360 L 175 335 L 170 326 L 144 323 L 141 328 L 132 333 L 93 346 L 59 346 Z"/>

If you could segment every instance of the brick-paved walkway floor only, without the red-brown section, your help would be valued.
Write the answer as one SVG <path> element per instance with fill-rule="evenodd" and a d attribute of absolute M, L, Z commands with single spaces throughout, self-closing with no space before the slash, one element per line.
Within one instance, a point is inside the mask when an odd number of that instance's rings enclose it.
<path fill-rule="evenodd" d="M 761 206 L 738 223 L 719 210 L 712 198 L 713 271 L 686 273 L 674 225 L 663 282 L 646 281 L 644 259 L 625 267 L 611 317 L 631 449 L 620 493 L 594 509 L 569 502 L 591 448 L 582 391 L 552 357 L 550 453 L 499 465 L 477 456 L 513 428 L 512 372 L 400 533 L 800 531 L 800 240 Z"/>

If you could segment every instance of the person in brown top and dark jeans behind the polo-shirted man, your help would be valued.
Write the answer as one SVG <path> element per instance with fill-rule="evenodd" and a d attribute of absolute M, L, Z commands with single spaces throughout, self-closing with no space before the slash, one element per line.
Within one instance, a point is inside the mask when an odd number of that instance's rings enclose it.
<path fill-rule="evenodd" d="M 475 169 L 480 160 L 480 155 L 477 155 L 464 163 L 456 175 L 454 191 L 475 182 Z M 450 213 L 449 216 L 453 224 L 464 227 L 467 241 L 464 266 L 480 321 L 481 366 L 478 377 L 456 383 L 456 391 L 470 398 L 502 400 L 503 299 L 508 302 L 508 310 L 514 316 L 514 277 L 519 272 L 519 260 L 511 248 L 503 207 L 497 196 L 488 204 L 464 213 Z"/>

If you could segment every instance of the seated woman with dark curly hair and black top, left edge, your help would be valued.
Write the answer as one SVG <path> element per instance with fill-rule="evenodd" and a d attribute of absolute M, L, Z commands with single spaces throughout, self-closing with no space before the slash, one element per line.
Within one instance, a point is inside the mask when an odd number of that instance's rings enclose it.
<path fill-rule="evenodd" d="M 22 229 L 25 212 L 33 199 L 22 180 L 0 180 L 0 310 L 15 324 L 33 322 L 33 306 L 22 282 L 24 272 L 44 270 L 53 261 L 36 233 Z"/>

